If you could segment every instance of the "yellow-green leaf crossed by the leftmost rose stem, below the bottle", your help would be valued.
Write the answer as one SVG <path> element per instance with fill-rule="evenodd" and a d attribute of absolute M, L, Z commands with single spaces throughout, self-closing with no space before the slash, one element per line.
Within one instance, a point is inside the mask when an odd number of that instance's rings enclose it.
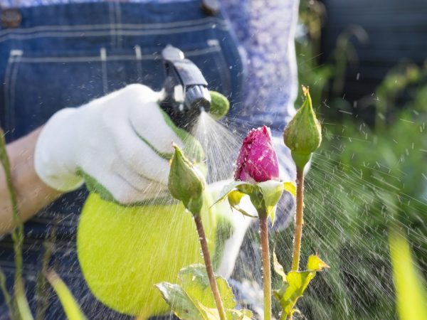
<path fill-rule="evenodd" d="M 214 295 L 212 294 L 209 278 L 206 274 L 204 265 L 189 265 L 189 267 L 181 269 L 178 276 L 179 279 L 181 279 L 182 289 L 193 302 L 199 302 L 208 308 L 216 309 Z M 216 283 L 218 284 L 218 290 L 224 308 L 234 309 L 236 307 L 236 302 L 234 300 L 233 291 L 231 287 L 228 286 L 226 279 L 216 276 Z"/>

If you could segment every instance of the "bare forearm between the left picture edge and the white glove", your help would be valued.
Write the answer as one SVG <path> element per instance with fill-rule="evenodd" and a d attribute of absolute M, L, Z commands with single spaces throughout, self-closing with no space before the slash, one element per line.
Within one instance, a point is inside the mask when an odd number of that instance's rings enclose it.
<path fill-rule="evenodd" d="M 8 144 L 12 183 L 15 188 L 19 212 L 23 221 L 60 196 L 60 192 L 46 186 L 34 169 L 34 149 L 41 128 L 16 142 Z M 0 170 L 0 234 L 14 227 L 14 219 L 4 170 Z"/>

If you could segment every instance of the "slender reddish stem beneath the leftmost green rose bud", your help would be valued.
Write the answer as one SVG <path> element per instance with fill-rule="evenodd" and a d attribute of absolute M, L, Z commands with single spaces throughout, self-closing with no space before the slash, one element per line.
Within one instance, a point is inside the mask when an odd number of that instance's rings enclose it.
<path fill-rule="evenodd" d="M 201 222 L 200 214 L 194 214 L 194 222 L 196 223 L 197 233 L 199 233 L 199 240 L 201 245 L 201 252 L 206 265 L 206 272 L 208 274 L 209 283 L 211 284 L 212 293 L 214 294 L 216 309 L 218 309 L 219 318 L 226 320 L 226 311 L 224 310 L 221 296 L 219 295 L 218 286 L 214 275 L 214 268 L 212 267 L 211 255 L 209 255 L 208 242 L 206 242 L 206 235 L 204 233 L 203 223 Z"/>

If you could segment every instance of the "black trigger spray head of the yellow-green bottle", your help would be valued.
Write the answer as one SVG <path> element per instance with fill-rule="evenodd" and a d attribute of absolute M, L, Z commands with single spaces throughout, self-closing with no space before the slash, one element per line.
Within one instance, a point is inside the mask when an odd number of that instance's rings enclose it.
<path fill-rule="evenodd" d="M 176 125 L 188 129 L 202 111 L 209 112 L 211 108 L 208 83 L 199 68 L 184 58 L 184 53 L 178 48 L 167 46 L 162 50 L 162 58 L 166 80 L 160 106 Z M 182 98 L 177 98 L 178 95 L 182 95 Z"/>

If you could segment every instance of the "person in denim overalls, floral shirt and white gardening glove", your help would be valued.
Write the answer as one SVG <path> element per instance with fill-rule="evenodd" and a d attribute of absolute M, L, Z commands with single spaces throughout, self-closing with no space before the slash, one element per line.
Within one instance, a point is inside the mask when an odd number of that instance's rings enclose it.
<path fill-rule="evenodd" d="M 87 196 L 83 177 L 95 178 L 120 203 L 167 189 L 162 153 L 180 140 L 152 102 L 164 80 L 159 53 L 168 44 L 201 69 L 210 90 L 228 97 L 231 128 L 271 127 L 281 173 L 293 177 L 282 132 L 295 112 L 298 1 L 221 0 L 219 11 L 215 2 L 0 0 L 0 127 L 26 221 L 29 290 L 54 228 L 53 264 L 66 283 L 77 283 L 83 311 L 90 319 L 127 319 L 107 311 L 84 286 L 75 253 Z M 9 287 L 12 217 L 1 172 L 0 266 Z M 288 220 L 278 217 L 275 228 Z M 34 309 L 37 302 L 30 303 Z M 7 319 L 4 302 L 0 313 Z M 46 319 L 63 317 L 60 306 L 49 306 Z"/>

